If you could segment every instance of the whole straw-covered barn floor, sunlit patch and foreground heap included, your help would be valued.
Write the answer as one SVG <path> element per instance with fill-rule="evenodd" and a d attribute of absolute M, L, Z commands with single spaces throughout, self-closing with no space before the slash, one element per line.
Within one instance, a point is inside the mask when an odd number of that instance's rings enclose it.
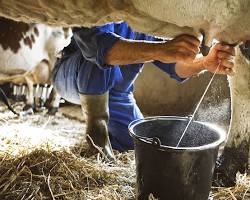
<path fill-rule="evenodd" d="M 0 199 L 135 199 L 133 151 L 102 161 L 87 150 L 84 128 L 76 106 L 17 118 L 0 105 Z M 239 174 L 235 187 L 213 188 L 210 199 L 248 200 L 249 189 L 250 177 Z"/>

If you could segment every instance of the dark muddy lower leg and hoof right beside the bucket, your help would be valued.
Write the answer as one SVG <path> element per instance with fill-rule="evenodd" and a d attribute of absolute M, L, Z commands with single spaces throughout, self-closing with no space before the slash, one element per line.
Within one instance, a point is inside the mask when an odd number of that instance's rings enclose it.
<path fill-rule="evenodd" d="M 243 142 L 244 143 L 244 142 Z M 236 184 L 236 174 L 245 173 L 248 166 L 247 143 L 236 148 L 224 149 L 218 158 L 214 170 L 213 185 L 217 187 L 232 187 Z"/>

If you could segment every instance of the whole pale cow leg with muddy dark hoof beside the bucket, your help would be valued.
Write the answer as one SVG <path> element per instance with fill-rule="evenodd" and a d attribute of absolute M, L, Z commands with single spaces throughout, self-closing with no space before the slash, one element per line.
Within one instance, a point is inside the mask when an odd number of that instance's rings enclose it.
<path fill-rule="evenodd" d="M 250 141 L 250 63 L 236 51 L 237 73 L 229 78 L 232 118 L 228 140 L 215 169 L 215 183 L 233 186 L 236 173 L 248 170 Z"/>

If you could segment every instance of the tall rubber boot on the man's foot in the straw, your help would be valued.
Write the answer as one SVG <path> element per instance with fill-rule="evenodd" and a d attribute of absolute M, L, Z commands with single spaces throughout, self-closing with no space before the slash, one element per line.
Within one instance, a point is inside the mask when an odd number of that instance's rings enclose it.
<path fill-rule="evenodd" d="M 86 139 L 107 158 L 114 159 L 108 134 L 108 92 L 103 95 L 80 94 L 81 106 L 86 114 Z"/>

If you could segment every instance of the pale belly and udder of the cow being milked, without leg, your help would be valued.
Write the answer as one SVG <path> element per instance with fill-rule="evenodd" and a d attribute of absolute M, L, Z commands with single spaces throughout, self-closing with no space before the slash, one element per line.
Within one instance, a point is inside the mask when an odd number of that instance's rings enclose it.
<path fill-rule="evenodd" d="M 234 43 L 250 36 L 248 8 L 248 0 L 8 0 L 1 1 L 0 15 L 63 26 L 126 20 L 137 31 L 166 37 L 204 29 L 207 42 Z"/>

